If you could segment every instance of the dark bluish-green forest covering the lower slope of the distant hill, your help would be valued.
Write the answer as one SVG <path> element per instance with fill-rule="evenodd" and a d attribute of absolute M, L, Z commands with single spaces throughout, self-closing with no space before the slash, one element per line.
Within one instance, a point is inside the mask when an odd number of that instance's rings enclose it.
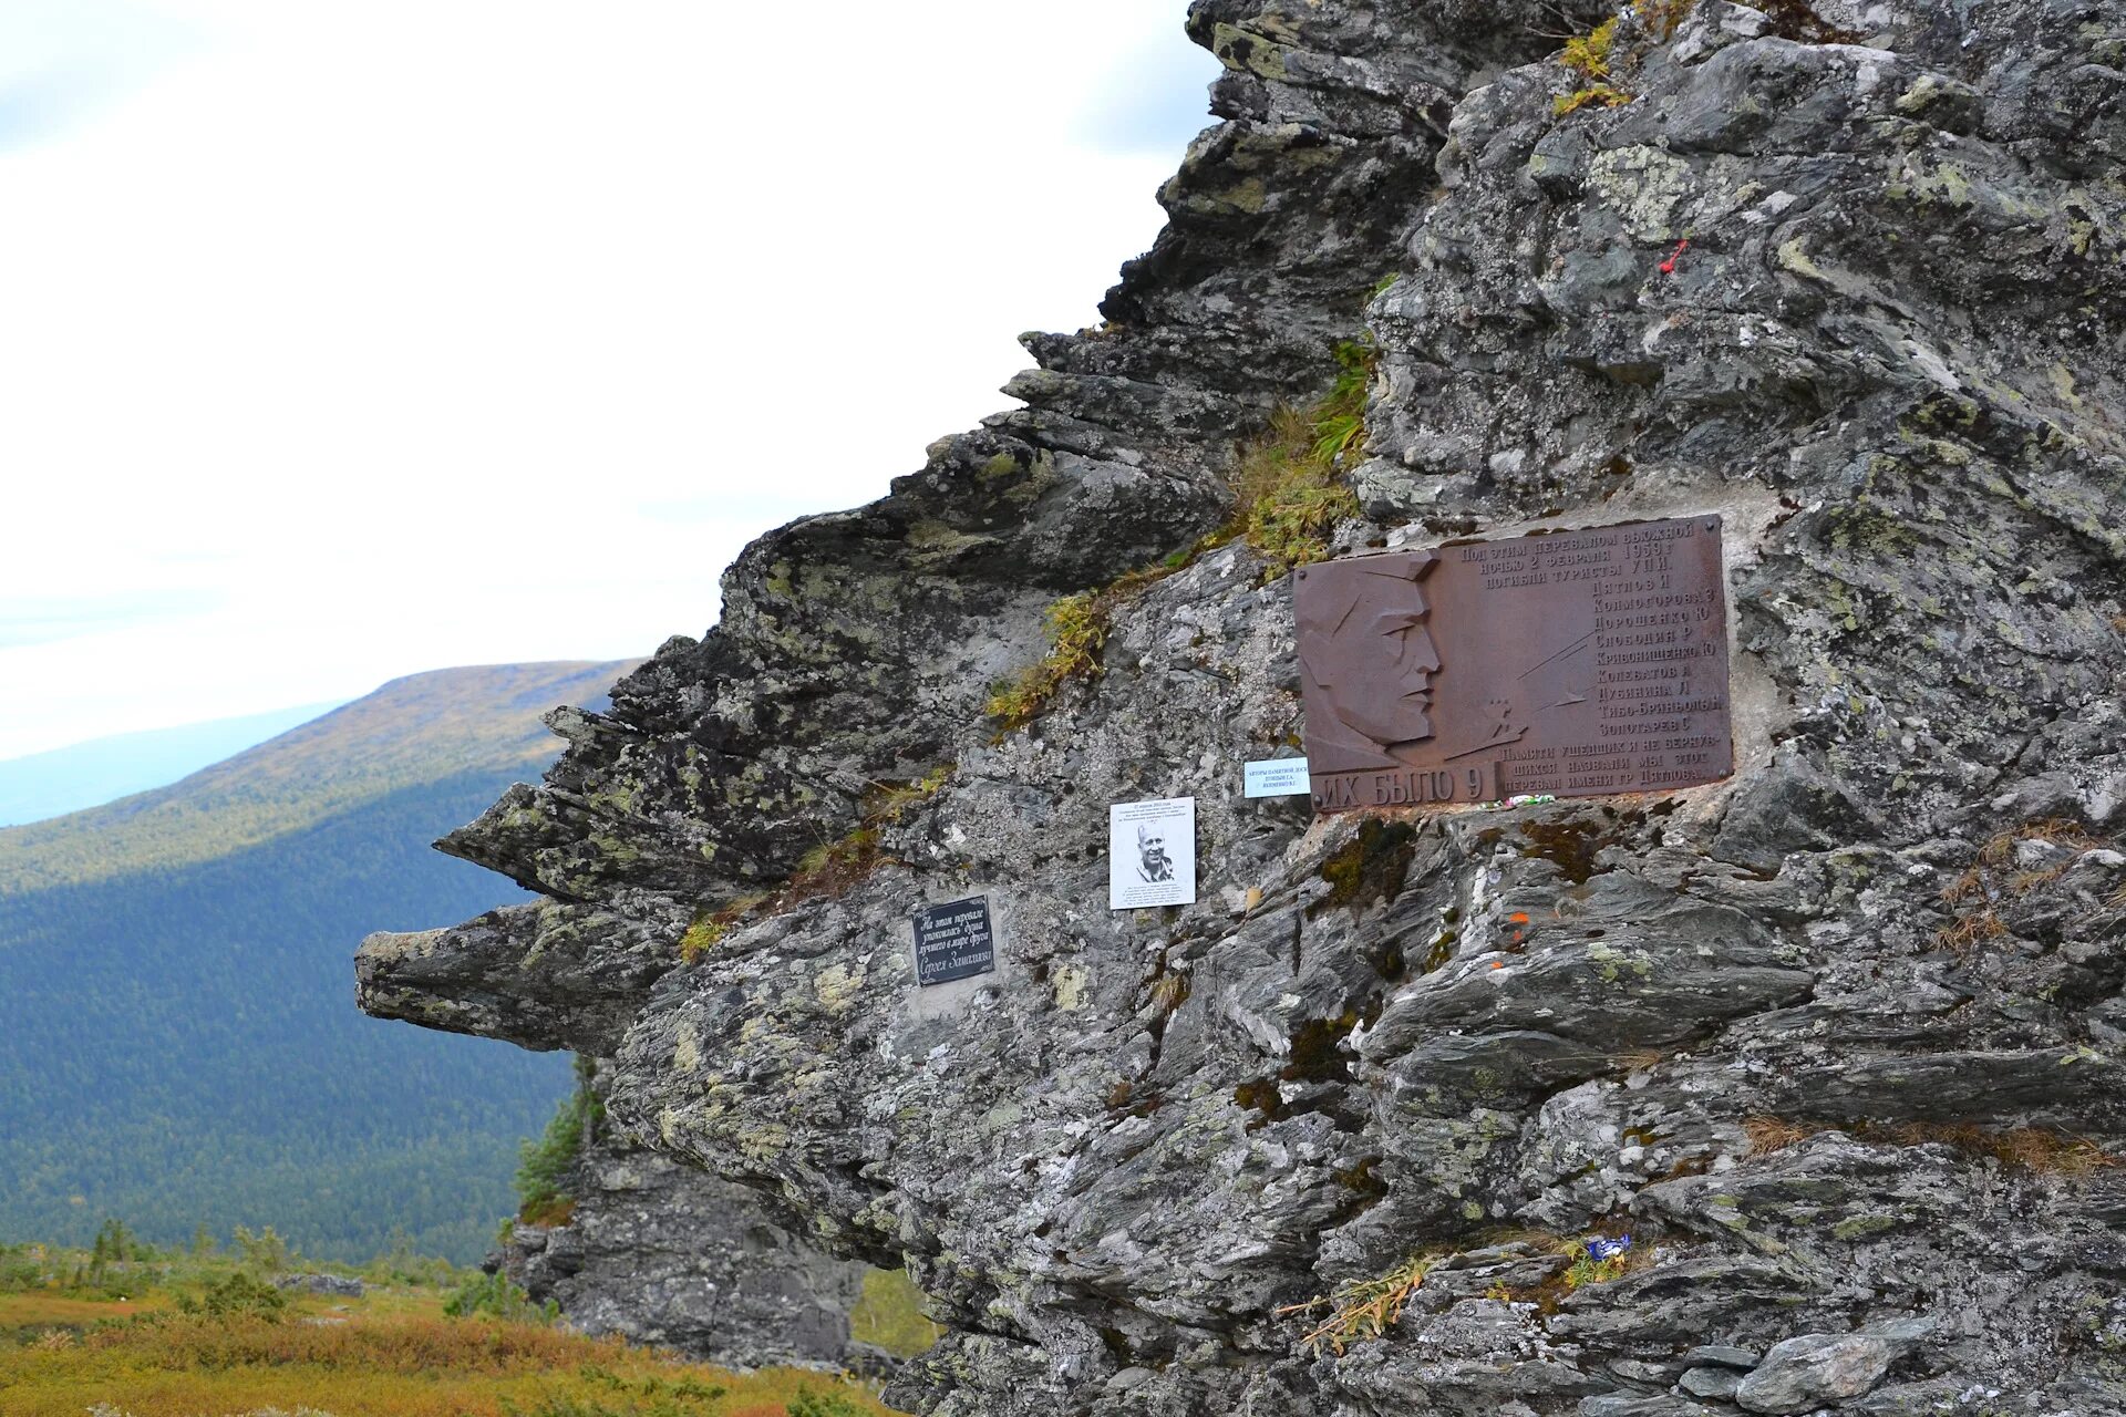
<path fill-rule="evenodd" d="M 174 1245 L 274 1226 L 470 1262 L 517 1143 L 570 1090 L 534 1056 L 364 1018 L 353 950 L 525 899 L 429 848 L 523 767 L 400 788 L 206 863 L 0 894 L 0 1241 L 106 1215 Z"/>

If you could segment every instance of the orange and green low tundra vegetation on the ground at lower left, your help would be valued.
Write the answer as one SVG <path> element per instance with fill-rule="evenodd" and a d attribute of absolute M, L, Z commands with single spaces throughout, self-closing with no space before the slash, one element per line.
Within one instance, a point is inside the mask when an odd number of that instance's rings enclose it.
<path fill-rule="evenodd" d="M 255 1239 L 255 1236 L 253 1236 Z M 140 1258 L 132 1258 L 138 1253 Z M 570 1332 L 500 1279 L 455 1296 L 374 1283 L 359 1298 L 276 1290 L 240 1253 L 128 1245 L 74 1290 L 89 1251 L 0 1247 L 6 1417 L 884 1417 L 865 1387 L 802 1370 L 727 1372 Z M 119 1268 L 123 1266 L 123 1268 Z M 457 1315 L 457 1317 L 453 1317 Z"/>

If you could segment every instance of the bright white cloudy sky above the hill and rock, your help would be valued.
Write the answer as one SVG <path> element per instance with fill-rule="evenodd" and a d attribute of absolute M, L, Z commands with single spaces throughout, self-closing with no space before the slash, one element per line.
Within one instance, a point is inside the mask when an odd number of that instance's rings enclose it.
<path fill-rule="evenodd" d="M 1182 0 L 0 0 L 0 758 L 699 635 L 1159 232 Z"/>

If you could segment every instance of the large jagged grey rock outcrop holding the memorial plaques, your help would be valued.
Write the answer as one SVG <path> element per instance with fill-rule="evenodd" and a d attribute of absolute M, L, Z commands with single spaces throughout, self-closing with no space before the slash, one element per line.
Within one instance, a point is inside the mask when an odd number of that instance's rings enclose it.
<path fill-rule="evenodd" d="M 608 1052 L 651 1145 L 908 1256 L 921 1411 L 2126 1411 L 2126 13 L 1643 8 L 1633 102 L 1558 117 L 1597 11 L 1199 0 L 1227 121 L 1110 325 L 563 716 L 446 843 L 553 903 L 372 941 L 370 1007 Z M 1361 327 L 1346 548 L 1726 514 L 1733 780 L 1242 801 L 1301 724 L 1237 544 L 980 718 Z M 887 865 L 680 962 L 940 765 Z M 1199 903 L 1108 914 L 1108 803 L 1171 795 Z M 974 888 L 999 973 L 918 996 L 908 911 Z M 1412 1256 L 1378 1338 L 1280 1313 Z"/>

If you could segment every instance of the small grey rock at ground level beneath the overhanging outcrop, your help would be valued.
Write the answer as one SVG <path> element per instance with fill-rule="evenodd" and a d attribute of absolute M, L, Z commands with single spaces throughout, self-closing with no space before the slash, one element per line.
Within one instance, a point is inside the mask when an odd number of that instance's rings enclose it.
<path fill-rule="evenodd" d="M 865 1266 L 770 1224 L 750 1192 L 606 1132 L 572 1194 L 570 1224 L 519 1224 L 502 1268 L 574 1328 L 744 1368 L 859 1362 Z"/>

